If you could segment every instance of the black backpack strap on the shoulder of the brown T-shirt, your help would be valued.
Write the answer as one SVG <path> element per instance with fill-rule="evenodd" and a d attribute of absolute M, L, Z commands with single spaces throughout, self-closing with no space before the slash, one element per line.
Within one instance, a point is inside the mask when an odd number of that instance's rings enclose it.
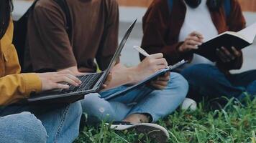
<path fill-rule="evenodd" d="M 72 21 L 71 21 L 71 16 L 70 16 L 70 10 L 68 8 L 68 4 L 66 0 L 54 0 L 60 8 L 63 10 L 65 13 L 65 19 L 67 21 L 67 24 L 65 25 L 65 29 L 68 34 L 68 38 L 71 41 L 71 35 L 72 35 Z"/>

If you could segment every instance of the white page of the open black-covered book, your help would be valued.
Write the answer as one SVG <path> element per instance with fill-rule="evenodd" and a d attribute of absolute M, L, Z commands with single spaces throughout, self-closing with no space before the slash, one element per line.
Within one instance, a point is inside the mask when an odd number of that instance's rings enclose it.
<path fill-rule="evenodd" d="M 256 23 L 238 31 L 237 34 L 241 35 L 244 39 L 247 39 L 250 44 L 252 44 L 256 35 Z"/>

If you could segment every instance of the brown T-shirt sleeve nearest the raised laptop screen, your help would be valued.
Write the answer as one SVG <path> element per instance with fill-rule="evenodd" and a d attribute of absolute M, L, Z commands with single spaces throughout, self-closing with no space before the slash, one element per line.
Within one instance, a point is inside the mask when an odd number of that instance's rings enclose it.
<path fill-rule="evenodd" d="M 101 70 L 107 68 L 118 46 L 119 8 L 116 1 L 106 2 L 106 16 L 104 34 L 96 54 L 96 61 Z M 119 60 L 116 63 L 119 63 Z"/>

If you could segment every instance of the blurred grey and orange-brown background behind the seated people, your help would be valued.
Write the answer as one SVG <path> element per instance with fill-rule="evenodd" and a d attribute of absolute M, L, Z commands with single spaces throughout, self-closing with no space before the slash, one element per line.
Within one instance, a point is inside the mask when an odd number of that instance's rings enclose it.
<path fill-rule="evenodd" d="M 142 39 L 142 16 L 147 11 L 147 6 L 151 4 L 153 0 L 116 0 L 119 2 L 120 12 L 120 26 L 119 26 L 119 39 L 122 38 L 124 32 L 128 28 L 129 24 L 138 19 L 137 25 L 134 27 L 127 44 L 122 51 L 121 61 L 126 66 L 133 66 L 140 62 L 139 54 L 134 51 L 132 47 L 134 45 L 141 44 Z M 256 0 L 238 0 L 244 11 L 244 16 L 247 20 L 247 25 L 256 22 Z M 14 0 L 14 19 L 18 19 L 19 16 L 27 9 L 27 6 L 32 3 L 32 0 Z M 255 44 L 243 49 L 244 52 L 244 64 L 242 69 L 233 71 L 245 71 L 248 69 L 256 69 L 256 40 Z"/>

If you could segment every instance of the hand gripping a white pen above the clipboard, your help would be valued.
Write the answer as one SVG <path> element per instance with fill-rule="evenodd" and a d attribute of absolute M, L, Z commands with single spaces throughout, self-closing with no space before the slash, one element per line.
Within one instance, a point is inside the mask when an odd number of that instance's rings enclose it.
<path fill-rule="evenodd" d="M 136 66 L 134 72 L 134 81 L 140 82 L 141 80 L 150 77 L 150 75 L 159 71 L 160 69 L 165 69 L 168 66 L 168 63 L 163 54 L 152 54 L 147 56 L 138 66 Z"/>

